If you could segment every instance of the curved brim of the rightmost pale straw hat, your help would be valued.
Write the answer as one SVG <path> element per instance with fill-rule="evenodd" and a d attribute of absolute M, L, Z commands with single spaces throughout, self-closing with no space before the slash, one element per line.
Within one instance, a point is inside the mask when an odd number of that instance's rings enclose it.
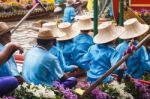
<path fill-rule="evenodd" d="M 122 33 L 120 35 L 119 38 L 121 39 L 132 39 L 132 38 L 135 38 L 135 37 L 139 37 L 143 34 L 145 34 L 148 30 L 149 30 L 149 25 L 147 24 L 142 24 L 141 25 L 141 28 L 137 29 L 137 30 L 125 30 L 124 33 Z"/>

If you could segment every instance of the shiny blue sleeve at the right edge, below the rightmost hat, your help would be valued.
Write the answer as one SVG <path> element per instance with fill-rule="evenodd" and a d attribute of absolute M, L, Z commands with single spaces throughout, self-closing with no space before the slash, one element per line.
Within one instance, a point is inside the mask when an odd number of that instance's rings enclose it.
<path fill-rule="evenodd" d="M 141 47 L 140 57 L 141 57 L 141 65 L 143 66 L 144 70 L 150 72 L 150 59 L 144 46 Z"/>

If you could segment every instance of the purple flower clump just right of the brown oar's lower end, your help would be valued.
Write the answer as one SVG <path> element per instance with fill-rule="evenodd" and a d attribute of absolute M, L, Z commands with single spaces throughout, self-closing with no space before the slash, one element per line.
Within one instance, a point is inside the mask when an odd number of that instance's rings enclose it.
<path fill-rule="evenodd" d="M 96 99 L 110 99 L 110 96 L 107 93 L 104 93 L 101 90 L 99 90 L 98 87 L 92 90 L 91 93 L 93 96 L 95 96 Z"/>

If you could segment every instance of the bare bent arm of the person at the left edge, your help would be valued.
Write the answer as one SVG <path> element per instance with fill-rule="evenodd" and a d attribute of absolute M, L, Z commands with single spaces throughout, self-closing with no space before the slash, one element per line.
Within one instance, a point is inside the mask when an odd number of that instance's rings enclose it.
<path fill-rule="evenodd" d="M 0 52 L 0 64 L 4 64 L 17 50 L 23 53 L 23 48 L 20 45 L 15 43 L 6 44 L 5 48 Z"/>

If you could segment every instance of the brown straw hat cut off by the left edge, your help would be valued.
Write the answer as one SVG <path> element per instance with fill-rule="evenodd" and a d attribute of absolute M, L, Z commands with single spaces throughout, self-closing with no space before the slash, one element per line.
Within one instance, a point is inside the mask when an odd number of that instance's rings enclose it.
<path fill-rule="evenodd" d="M 9 27 L 5 22 L 0 22 L 0 35 L 3 35 L 13 29 L 13 27 Z"/>

